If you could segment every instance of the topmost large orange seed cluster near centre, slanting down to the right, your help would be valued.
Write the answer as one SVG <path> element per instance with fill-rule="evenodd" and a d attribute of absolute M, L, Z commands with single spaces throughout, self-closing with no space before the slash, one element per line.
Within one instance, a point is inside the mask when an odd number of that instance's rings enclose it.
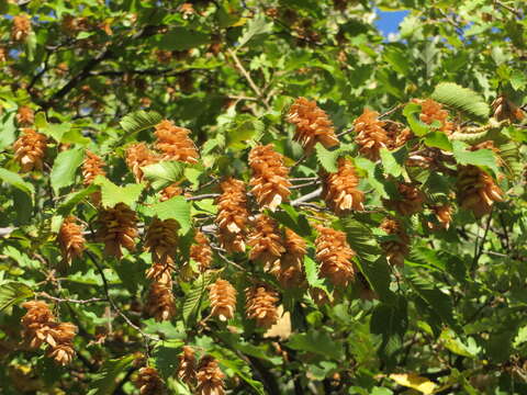
<path fill-rule="evenodd" d="M 307 153 L 313 150 L 316 143 L 326 148 L 339 144 L 332 121 L 315 101 L 296 99 L 289 110 L 288 122 L 296 126 L 293 139 L 302 144 Z"/>

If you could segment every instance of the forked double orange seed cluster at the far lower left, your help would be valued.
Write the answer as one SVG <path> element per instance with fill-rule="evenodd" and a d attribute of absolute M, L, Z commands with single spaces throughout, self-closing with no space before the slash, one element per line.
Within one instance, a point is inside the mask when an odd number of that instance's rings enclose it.
<path fill-rule="evenodd" d="M 25 302 L 22 307 L 27 309 L 22 317 L 22 326 L 23 336 L 30 341 L 30 347 L 36 349 L 45 343 L 48 358 L 61 365 L 70 363 L 75 357 L 72 340 L 77 327 L 70 323 L 57 323 L 45 302 Z"/>

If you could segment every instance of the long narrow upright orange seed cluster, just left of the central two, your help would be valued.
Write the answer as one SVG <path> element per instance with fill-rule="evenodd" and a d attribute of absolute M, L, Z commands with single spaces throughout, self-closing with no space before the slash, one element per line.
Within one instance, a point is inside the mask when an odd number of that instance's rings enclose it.
<path fill-rule="evenodd" d="M 222 194 L 216 201 L 220 245 L 227 252 L 244 252 L 247 238 L 247 194 L 240 180 L 228 178 L 220 184 Z"/>

